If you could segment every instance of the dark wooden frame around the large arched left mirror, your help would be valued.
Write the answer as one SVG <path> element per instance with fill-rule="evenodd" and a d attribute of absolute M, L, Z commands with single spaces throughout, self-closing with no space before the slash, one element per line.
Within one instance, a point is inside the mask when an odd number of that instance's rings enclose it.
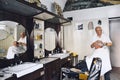
<path fill-rule="evenodd" d="M 30 34 L 33 30 L 33 17 L 31 16 L 22 16 L 22 15 L 18 15 L 18 14 L 15 14 L 15 13 L 10 13 L 10 12 L 7 12 L 7 11 L 4 11 L 4 10 L 1 10 L 0 11 L 0 21 L 13 21 L 13 22 L 17 22 L 21 25 L 24 26 L 25 30 L 27 30 L 27 51 L 25 52 L 25 55 L 23 56 L 22 58 L 22 61 L 32 61 L 33 60 L 33 48 L 30 46 L 31 45 L 31 39 L 30 39 Z M 2 62 L 6 62 L 6 64 L 2 64 Z M 11 61 L 9 60 L 5 60 L 5 61 L 2 61 L 0 59 L 0 63 L 2 64 L 0 66 L 1 67 L 5 67 L 5 66 L 8 66 L 11 64 Z"/>

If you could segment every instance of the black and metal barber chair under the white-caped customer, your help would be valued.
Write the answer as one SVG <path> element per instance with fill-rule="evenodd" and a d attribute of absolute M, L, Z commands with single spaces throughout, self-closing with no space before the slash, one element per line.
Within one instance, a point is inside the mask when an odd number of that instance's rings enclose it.
<path fill-rule="evenodd" d="M 87 67 L 87 66 L 86 66 Z M 102 60 L 100 58 L 93 58 L 90 70 L 83 72 L 81 69 L 75 68 L 61 68 L 60 80 L 100 80 L 100 73 L 102 67 Z"/>

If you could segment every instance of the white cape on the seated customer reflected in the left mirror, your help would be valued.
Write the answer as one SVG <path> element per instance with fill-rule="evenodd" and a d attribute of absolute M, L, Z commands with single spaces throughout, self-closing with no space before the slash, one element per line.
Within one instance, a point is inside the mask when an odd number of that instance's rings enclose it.
<path fill-rule="evenodd" d="M 15 46 L 11 46 L 8 48 L 8 52 L 7 52 L 7 59 L 13 59 L 15 54 L 19 54 L 19 53 L 23 53 L 25 52 L 24 49 L 20 48 L 20 47 L 15 47 Z"/>

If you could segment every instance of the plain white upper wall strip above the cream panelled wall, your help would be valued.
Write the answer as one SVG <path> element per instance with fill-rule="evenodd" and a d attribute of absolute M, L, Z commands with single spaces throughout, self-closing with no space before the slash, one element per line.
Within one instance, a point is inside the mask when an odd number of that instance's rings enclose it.
<path fill-rule="evenodd" d="M 120 5 L 89 8 L 83 10 L 75 10 L 64 12 L 65 17 L 73 17 L 73 21 L 88 20 L 104 17 L 120 17 Z"/>

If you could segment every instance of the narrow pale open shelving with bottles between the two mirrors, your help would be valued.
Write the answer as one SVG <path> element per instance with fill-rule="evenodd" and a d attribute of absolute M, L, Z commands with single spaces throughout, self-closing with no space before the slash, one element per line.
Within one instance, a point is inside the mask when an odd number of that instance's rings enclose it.
<path fill-rule="evenodd" d="M 44 55 L 44 21 L 34 19 L 34 57 L 42 58 Z"/>

